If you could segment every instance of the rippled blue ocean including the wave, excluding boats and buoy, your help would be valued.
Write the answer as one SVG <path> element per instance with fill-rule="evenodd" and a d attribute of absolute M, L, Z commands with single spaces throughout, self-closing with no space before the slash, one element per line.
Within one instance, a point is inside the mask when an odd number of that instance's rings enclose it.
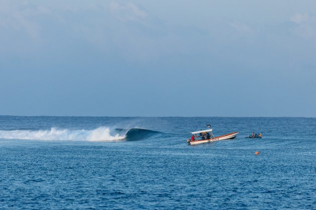
<path fill-rule="evenodd" d="M 206 123 L 240 133 L 188 145 Z M 315 209 L 315 136 L 316 118 L 0 116 L 0 207 Z"/>

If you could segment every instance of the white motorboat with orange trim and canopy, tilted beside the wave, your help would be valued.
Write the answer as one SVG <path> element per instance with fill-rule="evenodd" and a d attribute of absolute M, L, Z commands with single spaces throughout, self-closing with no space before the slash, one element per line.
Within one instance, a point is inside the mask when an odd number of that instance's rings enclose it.
<path fill-rule="evenodd" d="M 237 131 L 237 132 L 231 132 L 231 133 L 220 135 L 220 136 L 214 136 L 211 125 L 207 124 L 207 126 L 209 129 L 191 132 L 194 136 L 194 139 L 193 138 L 187 139 L 188 144 L 195 145 L 195 144 L 208 143 L 208 142 L 214 142 L 214 141 L 220 141 L 220 140 L 234 139 L 239 133 Z"/>

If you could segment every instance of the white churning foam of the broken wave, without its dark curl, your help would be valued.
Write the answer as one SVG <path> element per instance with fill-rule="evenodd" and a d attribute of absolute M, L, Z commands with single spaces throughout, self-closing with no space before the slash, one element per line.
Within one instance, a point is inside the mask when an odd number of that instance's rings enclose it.
<path fill-rule="evenodd" d="M 48 130 L 0 130 L 0 138 L 32 140 L 87 140 L 115 141 L 125 138 L 125 133 L 112 132 L 108 127 L 94 130 L 70 130 L 52 127 Z"/>

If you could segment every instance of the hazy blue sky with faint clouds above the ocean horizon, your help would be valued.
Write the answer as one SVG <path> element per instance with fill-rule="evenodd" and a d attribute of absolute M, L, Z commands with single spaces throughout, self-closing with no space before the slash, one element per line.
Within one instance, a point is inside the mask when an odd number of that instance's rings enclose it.
<path fill-rule="evenodd" d="M 0 115 L 316 117 L 315 0 L 0 0 Z"/>

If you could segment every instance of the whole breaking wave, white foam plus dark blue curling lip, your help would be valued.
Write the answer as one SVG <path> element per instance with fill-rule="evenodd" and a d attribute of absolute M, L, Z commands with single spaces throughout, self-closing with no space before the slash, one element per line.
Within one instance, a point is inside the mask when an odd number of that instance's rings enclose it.
<path fill-rule="evenodd" d="M 110 129 L 109 127 L 98 127 L 93 130 L 71 130 L 52 127 L 47 130 L 0 130 L 0 138 L 25 140 L 135 141 L 157 133 L 160 132 L 141 128 Z"/>

